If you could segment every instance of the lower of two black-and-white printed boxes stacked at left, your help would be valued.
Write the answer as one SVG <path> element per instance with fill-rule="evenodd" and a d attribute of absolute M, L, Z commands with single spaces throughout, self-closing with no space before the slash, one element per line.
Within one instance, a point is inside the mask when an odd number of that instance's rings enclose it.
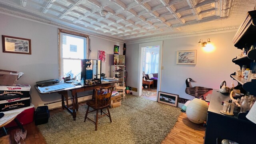
<path fill-rule="evenodd" d="M 27 106 L 30 106 L 30 97 L 0 100 L 0 112 L 6 112 L 8 110 L 15 110 Z"/>

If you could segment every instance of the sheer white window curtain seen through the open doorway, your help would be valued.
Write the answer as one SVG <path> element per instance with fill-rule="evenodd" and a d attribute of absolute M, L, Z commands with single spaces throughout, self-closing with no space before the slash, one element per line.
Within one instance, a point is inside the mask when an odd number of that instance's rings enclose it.
<path fill-rule="evenodd" d="M 158 73 L 159 54 L 155 52 L 146 52 L 145 73 Z"/>

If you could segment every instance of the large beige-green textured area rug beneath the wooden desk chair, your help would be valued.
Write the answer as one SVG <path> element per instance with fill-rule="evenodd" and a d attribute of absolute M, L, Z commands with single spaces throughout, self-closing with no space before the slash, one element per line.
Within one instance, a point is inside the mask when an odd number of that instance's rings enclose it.
<path fill-rule="evenodd" d="M 180 108 L 127 94 L 121 106 L 110 109 L 112 123 L 104 116 L 95 131 L 92 122 L 84 122 L 86 108 L 79 107 L 76 121 L 63 110 L 39 125 L 47 144 L 160 144 L 180 115 Z"/>

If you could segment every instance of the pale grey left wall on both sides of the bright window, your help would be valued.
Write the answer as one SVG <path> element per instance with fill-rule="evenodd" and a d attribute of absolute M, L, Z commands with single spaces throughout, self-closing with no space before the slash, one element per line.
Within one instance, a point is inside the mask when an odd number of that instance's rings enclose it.
<path fill-rule="evenodd" d="M 42 24 L 22 18 L 0 14 L 0 35 L 31 39 L 31 55 L 2 52 L 0 40 L 0 69 L 24 72 L 18 80 L 20 84 L 30 84 L 32 104 L 61 100 L 59 94 L 39 95 L 34 85 L 37 81 L 58 78 L 58 27 Z M 101 38 L 90 37 L 91 59 L 97 59 L 97 50 L 106 50 L 107 62 L 102 63 L 102 73 L 110 76 L 110 65 L 113 64 L 114 45 L 123 44 Z M 112 57 L 112 59 L 111 59 Z M 112 61 L 111 61 L 112 60 Z"/>

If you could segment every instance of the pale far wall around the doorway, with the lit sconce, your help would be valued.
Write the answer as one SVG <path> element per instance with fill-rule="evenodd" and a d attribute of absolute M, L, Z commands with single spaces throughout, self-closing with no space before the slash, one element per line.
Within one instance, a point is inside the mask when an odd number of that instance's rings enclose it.
<path fill-rule="evenodd" d="M 230 86 L 232 81 L 230 74 L 239 68 L 238 65 L 232 62 L 232 59 L 241 52 L 232 43 L 235 33 L 226 32 L 164 40 L 162 52 L 164 70 L 162 70 L 159 91 L 178 94 L 181 98 L 193 99 L 194 96 L 185 93 L 186 78 L 192 78 L 196 81 L 192 83 L 192 86 L 218 89 L 222 80 L 226 80 L 228 86 Z M 205 52 L 201 46 L 198 46 L 200 38 L 203 41 L 210 38 L 215 50 L 213 52 Z M 178 50 L 197 50 L 196 65 L 176 64 Z M 127 84 L 135 88 L 138 87 L 138 70 L 136 69 L 139 62 L 138 53 L 139 44 L 127 44 L 126 55 L 129 58 L 126 65 L 126 70 L 129 73 Z"/>

